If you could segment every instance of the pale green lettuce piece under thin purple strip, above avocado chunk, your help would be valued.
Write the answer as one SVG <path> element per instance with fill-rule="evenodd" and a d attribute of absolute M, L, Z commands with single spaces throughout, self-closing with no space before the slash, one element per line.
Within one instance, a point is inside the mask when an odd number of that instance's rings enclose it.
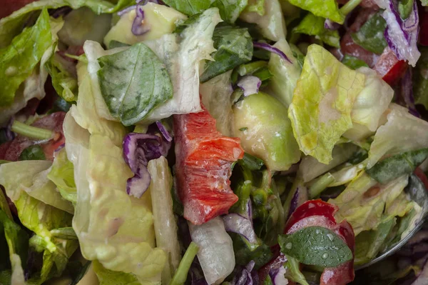
<path fill-rule="evenodd" d="M 302 66 L 300 66 L 296 56 L 295 49 L 292 49 L 285 39 L 277 41 L 275 48 L 280 49 L 290 61 L 282 59 L 277 54 L 271 54 L 269 60 L 269 71 L 272 74 L 270 78 L 270 88 L 275 98 L 281 101 L 286 107 L 290 106 L 292 94 L 299 79 Z M 300 51 L 297 51 L 300 53 Z M 296 54 L 297 55 L 297 54 Z"/>

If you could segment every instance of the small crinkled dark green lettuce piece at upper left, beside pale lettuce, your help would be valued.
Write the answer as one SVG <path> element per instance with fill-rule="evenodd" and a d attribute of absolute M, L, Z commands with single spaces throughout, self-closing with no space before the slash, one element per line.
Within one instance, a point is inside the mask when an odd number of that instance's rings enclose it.
<path fill-rule="evenodd" d="M 52 79 L 56 93 L 66 101 L 76 101 L 77 78 L 67 70 L 69 61 L 54 53 L 46 62 L 45 68 Z"/>

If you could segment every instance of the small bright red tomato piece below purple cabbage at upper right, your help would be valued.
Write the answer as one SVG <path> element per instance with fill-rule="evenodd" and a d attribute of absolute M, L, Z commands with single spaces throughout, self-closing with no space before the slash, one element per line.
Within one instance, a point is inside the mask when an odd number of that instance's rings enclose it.
<path fill-rule="evenodd" d="M 397 84 L 403 76 L 408 65 L 405 61 L 400 61 L 395 56 L 394 51 L 385 49 L 374 64 L 374 71 L 377 72 L 382 79 L 389 85 Z"/>

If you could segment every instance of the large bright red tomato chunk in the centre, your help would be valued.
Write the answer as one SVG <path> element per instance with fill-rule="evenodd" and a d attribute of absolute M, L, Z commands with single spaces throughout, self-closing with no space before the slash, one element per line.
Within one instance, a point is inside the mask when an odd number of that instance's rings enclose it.
<path fill-rule="evenodd" d="M 240 140 L 223 136 L 204 106 L 174 116 L 176 177 L 184 217 L 203 224 L 226 214 L 238 196 L 230 189 L 231 164 L 242 159 Z"/>

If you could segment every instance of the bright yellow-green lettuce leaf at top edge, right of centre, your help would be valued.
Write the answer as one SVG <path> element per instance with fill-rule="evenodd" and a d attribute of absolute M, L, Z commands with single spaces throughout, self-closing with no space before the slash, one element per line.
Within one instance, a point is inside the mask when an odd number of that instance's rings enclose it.
<path fill-rule="evenodd" d="M 339 10 L 335 0 L 289 0 L 291 4 L 312 12 L 315 16 L 330 19 L 339 24 L 345 21 L 345 15 Z"/>

